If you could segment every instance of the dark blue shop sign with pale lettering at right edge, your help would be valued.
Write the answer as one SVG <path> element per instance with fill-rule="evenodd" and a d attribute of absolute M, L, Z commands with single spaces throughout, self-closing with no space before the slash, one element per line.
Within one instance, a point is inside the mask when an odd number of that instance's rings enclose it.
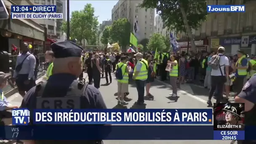
<path fill-rule="evenodd" d="M 251 44 L 256 44 L 256 35 L 243 37 L 221 37 L 219 38 L 220 45 L 241 45 L 246 47 Z"/>

